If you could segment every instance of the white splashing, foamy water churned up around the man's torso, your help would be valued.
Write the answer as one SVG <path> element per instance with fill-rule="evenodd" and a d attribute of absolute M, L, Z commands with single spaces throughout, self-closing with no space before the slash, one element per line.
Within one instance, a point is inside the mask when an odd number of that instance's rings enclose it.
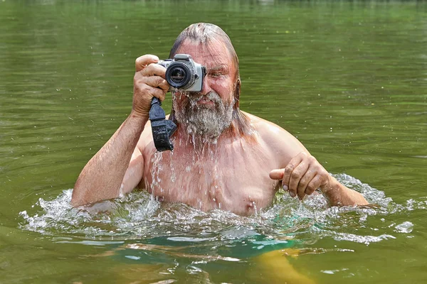
<path fill-rule="evenodd" d="M 162 237 L 169 238 L 169 241 L 224 242 L 252 238 L 252 241 L 279 243 L 292 239 L 302 244 L 312 244 L 320 239 L 332 238 L 370 244 L 396 238 L 396 234 L 408 234 L 413 230 L 413 224 L 394 224 L 394 235 L 385 230 L 390 226 L 386 222 L 375 235 L 354 234 L 352 228 L 357 231 L 366 227 L 369 217 L 374 215 L 386 217 L 427 206 L 425 201 L 414 200 L 408 200 L 406 206 L 396 204 L 384 192 L 349 175 L 334 177 L 347 187 L 361 192 L 376 206 L 328 207 L 322 195 L 310 196 L 300 202 L 285 192 L 278 192 L 270 208 L 260 210 L 255 216 L 241 217 L 221 210 L 201 212 L 185 204 L 161 203 L 147 192 L 131 192 L 114 201 L 78 209 L 70 205 L 72 190 L 64 190 L 54 200 L 40 198 L 33 209 L 28 209 L 30 212 L 20 212 L 23 219 L 20 226 L 21 229 L 51 236 L 108 237 L 115 241 Z"/>

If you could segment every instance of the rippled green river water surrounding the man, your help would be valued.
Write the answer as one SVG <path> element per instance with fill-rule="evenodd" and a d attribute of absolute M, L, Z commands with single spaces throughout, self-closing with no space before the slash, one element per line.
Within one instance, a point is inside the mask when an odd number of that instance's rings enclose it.
<path fill-rule="evenodd" d="M 130 113 L 135 58 L 167 58 L 199 21 L 233 41 L 241 109 L 378 207 L 279 194 L 238 217 L 145 192 L 70 207 Z M 0 1 L 0 283 L 426 283 L 426 99 L 424 1 Z"/>

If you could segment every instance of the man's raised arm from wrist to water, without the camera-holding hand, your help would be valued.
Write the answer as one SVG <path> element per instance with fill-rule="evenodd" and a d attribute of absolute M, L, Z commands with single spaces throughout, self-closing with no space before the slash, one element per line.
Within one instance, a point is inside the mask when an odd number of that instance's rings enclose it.
<path fill-rule="evenodd" d="M 75 182 L 71 199 L 73 206 L 115 198 L 120 192 L 130 192 L 137 185 L 142 178 L 144 163 L 141 152 L 135 146 L 147 120 L 147 117 L 130 114 L 110 140 L 89 160 Z M 132 180 L 130 177 L 124 179 L 126 172 L 133 173 Z"/>

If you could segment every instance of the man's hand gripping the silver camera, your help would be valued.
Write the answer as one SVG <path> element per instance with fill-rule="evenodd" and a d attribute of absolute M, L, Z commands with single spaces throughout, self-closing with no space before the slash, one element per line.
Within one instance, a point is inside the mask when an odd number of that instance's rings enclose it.
<path fill-rule="evenodd" d="M 134 96 L 132 113 L 148 118 L 153 97 L 164 100 L 169 84 L 164 80 L 166 68 L 156 64 L 156 55 L 142 55 L 135 60 Z"/>

